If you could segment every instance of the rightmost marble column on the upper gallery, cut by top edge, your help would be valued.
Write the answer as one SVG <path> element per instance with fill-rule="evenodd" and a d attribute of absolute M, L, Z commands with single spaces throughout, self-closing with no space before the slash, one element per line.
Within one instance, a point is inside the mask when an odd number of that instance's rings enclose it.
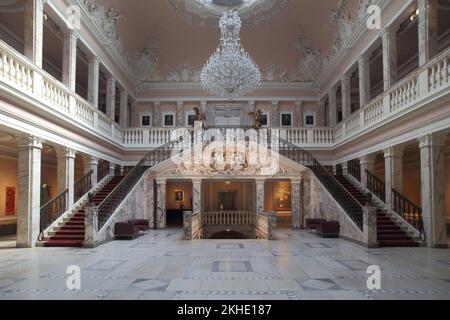
<path fill-rule="evenodd" d="M 438 52 L 437 0 L 418 0 L 419 9 L 419 66 L 423 66 Z"/>

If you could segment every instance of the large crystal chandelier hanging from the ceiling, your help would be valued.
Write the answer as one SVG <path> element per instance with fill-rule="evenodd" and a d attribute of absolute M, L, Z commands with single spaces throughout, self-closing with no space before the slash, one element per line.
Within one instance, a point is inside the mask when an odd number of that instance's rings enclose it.
<path fill-rule="evenodd" d="M 234 10 L 220 18 L 220 45 L 202 69 L 200 81 L 207 92 L 230 100 L 258 89 L 261 71 L 241 45 L 241 19 Z"/>

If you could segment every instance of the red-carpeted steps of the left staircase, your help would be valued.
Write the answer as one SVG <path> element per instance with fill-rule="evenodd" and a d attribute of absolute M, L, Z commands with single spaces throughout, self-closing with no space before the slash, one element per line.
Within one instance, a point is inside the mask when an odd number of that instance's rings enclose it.
<path fill-rule="evenodd" d="M 123 176 L 113 177 L 103 188 L 94 195 L 94 203 L 98 206 L 122 182 Z M 44 239 L 44 247 L 82 247 L 84 241 L 84 209 L 75 212 L 66 221 L 60 223 L 48 238 Z"/>

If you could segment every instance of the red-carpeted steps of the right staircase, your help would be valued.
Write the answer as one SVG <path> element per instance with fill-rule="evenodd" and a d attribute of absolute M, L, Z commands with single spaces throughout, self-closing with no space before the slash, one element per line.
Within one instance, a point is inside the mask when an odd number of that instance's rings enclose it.
<path fill-rule="evenodd" d="M 345 176 L 337 175 L 339 181 L 361 205 L 365 205 L 364 194 Z M 418 247 L 419 243 L 409 236 L 395 221 L 393 221 L 383 208 L 377 210 L 377 233 L 380 247 Z"/>

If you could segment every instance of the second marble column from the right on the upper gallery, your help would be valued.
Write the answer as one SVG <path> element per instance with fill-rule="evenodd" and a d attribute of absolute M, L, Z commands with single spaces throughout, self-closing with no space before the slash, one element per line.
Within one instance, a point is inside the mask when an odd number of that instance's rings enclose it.
<path fill-rule="evenodd" d="M 383 46 L 383 84 L 384 91 L 397 81 L 397 25 L 383 29 L 381 33 Z"/>

